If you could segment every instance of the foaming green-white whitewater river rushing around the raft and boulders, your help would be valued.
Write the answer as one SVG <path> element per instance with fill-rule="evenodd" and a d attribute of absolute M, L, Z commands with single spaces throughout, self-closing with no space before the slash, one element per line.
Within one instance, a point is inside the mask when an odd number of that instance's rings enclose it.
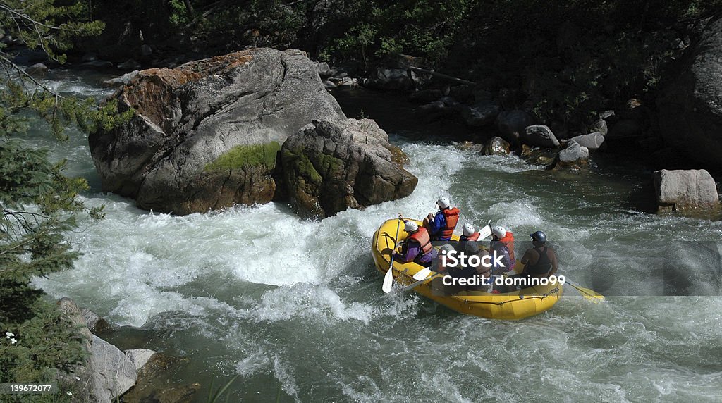
<path fill-rule="evenodd" d="M 49 82 L 108 94 L 97 79 L 59 74 Z M 69 174 L 92 186 L 83 200 L 105 205 L 106 217 L 71 234 L 82 252 L 73 270 L 36 283 L 123 327 L 109 336 L 122 348 L 188 358 L 173 380 L 199 382 L 199 402 L 212 378 L 235 374 L 232 402 L 722 399 L 722 298 L 706 282 L 718 261 L 679 267 L 702 280 L 688 292 L 713 296 L 662 296 L 645 285 L 646 273 L 658 272 L 657 249 L 642 246 L 714 242 L 722 222 L 640 212 L 651 172 L 599 159 L 590 172 L 551 173 L 514 156 L 392 133 L 419 177 L 408 198 L 321 222 L 276 203 L 176 217 L 101 192 L 87 138 L 71 130 L 71 141 L 57 146 L 43 130 L 35 127 L 30 141 L 69 159 Z M 547 313 L 499 322 L 414 294 L 385 295 L 370 255 L 373 232 L 399 212 L 425 216 L 440 194 L 461 208 L 462 223 L 492 220 L 518 239 L 546 231 L 560 242 L 560 270 L 580 284 L 604 286 L 600 270 L 623 268 L 609 292 L 635 296 L 592 304 L 567 287 Z M 595 256 L 618 263 L 612 270 Z"/>

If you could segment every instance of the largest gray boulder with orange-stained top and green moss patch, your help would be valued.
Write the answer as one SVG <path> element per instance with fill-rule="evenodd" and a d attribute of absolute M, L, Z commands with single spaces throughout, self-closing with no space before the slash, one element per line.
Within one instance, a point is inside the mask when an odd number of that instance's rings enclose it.
<path fill-rule="evenodd" d="M 300 50 L 151 68 L 113 97 L 135 115 L 89 136 L 103 190 L 181 215 L 269 202 L 286 138 L 313 120 L 346 118 Z"/>

